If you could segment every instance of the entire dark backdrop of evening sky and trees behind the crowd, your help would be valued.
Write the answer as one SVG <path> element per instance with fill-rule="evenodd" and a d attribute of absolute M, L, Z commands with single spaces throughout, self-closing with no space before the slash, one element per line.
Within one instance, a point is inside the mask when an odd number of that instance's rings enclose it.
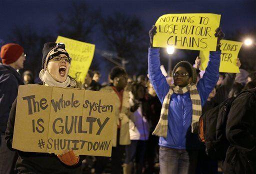
<path fill-rule="evenodd" d="M 38 76 L 43 43 L 57 35 L 93 43 L 97 50 L 112 51 L 128 60 L 129 75 L 146 75 L 148 30 L 166 13 L 221 14 L 225 39 L 256 41 L 256 0 L 0 0 L 0 46 L 15 42 L 27 54 L 24 69 Z M 172 65 L 194 62 L 198 51 L 175 50 Z M 256 47 L 242 46 L 242 67 L 256 70 Z M 167 69 L 168 55 L 161 49 Z M 91 69 L 106 81 L 113 63 L 95 52 Z"/>

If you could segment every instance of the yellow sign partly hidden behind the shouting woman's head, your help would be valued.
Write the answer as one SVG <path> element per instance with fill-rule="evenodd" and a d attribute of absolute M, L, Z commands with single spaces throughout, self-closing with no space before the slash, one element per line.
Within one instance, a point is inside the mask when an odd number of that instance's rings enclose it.
<path fill-rule="evenodd" d="M 65 49 L 72 58 L 68 75 L 83 84 L 94 55 L 95 45 L 62 36 L 57 37 L 56 43 L 58 42 L 65 44 Z"/>

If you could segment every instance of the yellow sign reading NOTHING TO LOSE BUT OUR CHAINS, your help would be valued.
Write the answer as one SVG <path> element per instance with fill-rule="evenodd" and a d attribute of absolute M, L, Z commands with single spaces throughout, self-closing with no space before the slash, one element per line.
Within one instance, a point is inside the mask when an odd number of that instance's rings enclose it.
<path fill-rule="evenodd" d="M 164 14 L 155 23 L 153 46 L 215 51 L 219 22 L 219 14 Z"/>

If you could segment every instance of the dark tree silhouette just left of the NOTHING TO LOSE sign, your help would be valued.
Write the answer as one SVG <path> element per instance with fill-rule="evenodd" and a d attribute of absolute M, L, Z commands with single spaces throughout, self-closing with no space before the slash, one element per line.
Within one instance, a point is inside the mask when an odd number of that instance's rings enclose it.
<path fill-rule="evenodd" d="M 136 16 L 115 12 L 112 16 L 101 18 L 100 24 L 108 48 L 129 61 L 127 72 L 144 74 L 148 39 L 142 21 Z"/>

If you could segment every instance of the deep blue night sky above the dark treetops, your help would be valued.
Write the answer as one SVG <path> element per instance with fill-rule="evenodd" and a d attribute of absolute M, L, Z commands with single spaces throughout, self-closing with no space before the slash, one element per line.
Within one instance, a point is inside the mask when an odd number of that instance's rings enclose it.
<path fill-rule="evenodd" d="M 79 3 L 82 0 L 74 0 Z M 122 11 L 140 17 L 148 30 L 159 16 L 166 13 L 221 14 L 220 26 L 228 34 L 256 28 L 256 0 L 85 0 L 102 15 Z M 38 32 L 45 28 L 56 33 L 56 14 L 69 10 L 71 0 L 0 0 L 0 42 L 9 41 L 14 26 L 31 25 Z M 57 35 L 56 35 L 57 36 Z M 93 36 L 96 48 L 104 49 L 102 38 Z M 238 41 L 238 40 L 237 40 Z M 242 41 L 242 40 L 239 40 Z"/>

